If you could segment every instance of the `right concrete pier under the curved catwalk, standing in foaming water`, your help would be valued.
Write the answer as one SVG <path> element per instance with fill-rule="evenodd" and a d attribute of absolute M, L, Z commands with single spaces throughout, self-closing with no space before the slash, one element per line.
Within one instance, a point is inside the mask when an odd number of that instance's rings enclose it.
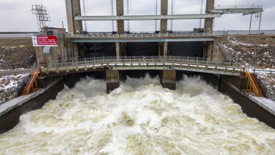
<path fill-rule="evenodd" d="M 162 88 L 176 90 L 176 73 L 175 69 L 163 70 Z"/>

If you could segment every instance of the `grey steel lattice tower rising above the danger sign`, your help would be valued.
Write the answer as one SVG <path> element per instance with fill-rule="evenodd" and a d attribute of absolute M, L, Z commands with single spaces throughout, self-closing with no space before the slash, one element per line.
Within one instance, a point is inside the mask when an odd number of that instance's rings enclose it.
<path fill-rule="evenodd" d="M 38 25 L 38 33 L 47 34 L 47 26 L 46 22 L 51 21 L 51 18 L 48 14 L 46 7 L 43 5 L 31 5 L 32 6 L 32 14 L 36 15 L 37 25 Z"/>

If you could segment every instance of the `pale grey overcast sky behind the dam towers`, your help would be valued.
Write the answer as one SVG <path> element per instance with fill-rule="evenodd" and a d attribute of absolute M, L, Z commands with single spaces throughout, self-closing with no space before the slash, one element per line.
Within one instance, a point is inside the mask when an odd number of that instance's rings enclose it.
<path fill-rule="evenodd" d="M 81 4 L 82 4 L 82 0 Z M 88 15 L 111 15 L 109 0 L 87 0 Z M 116 2 L 114 1 L 114 15 L 116 15 Z M 129 0 L 130 1 L 130 0 Z M 160 1 L 158 0 L 158 14 L 160 14 Z M 171 14 L 171 1 L 168 0 L 168 14 Z M 203 12 L 205 11 L 205 1 Z M 275 0 L 216 0 L 216 5 L 251 5 L 263 4 L 261 30 L 275 29 Z M 36 15 L 32 15 L 31 5 L 42 4 L 48 7 L 51 21 L 50 27 L 64 27 L 67 29 L 66 9 L 64 0 L 0 0 L 0 31 L 38 31 Z M 127 0 L 124 0 L 124 15 L 127 15 Z M 198 14 L 199 0 L 175 0 L 174 14 Z M 154 0 L 131 0 L 131 15 L 153 15 Z M 253 18 L 253 30 L 259 26 L 259 18 Z M 254 25 L 254 21 L 256 24 Z M 214 30 L 248 30 L 250 15 L 226 14 L 215 19 Z M 112 31 L 111 21 L 88 21 L 89 32 Z M 116 22 L 114 22 L 116 29 Z M 202 24 L 203 26 L 203 24 Z M 193 30 L 199 27 L 199 20 L 174 20 L 173 31 Z M 125 28 L 127 22 L 125 21 Z M 154 31 L 154 21 L 131 21 L 131 31 Z M 159 21 L 158 21 L 159 29 Z M 170 20 L 168 20 L 170 29 Z M 67 30 L 68 31 L 68 30 Z"/>

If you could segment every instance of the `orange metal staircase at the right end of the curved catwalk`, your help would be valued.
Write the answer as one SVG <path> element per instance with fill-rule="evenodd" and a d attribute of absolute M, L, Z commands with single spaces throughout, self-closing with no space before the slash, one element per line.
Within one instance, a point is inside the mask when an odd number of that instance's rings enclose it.
<path fill-rule="evenodd" d="M 262 90 L 261 90 L 260 86 L 258 85 L 258 82 L 256 81 L 253 73 L 250 73 L 246 70 L 245 78 L 248 78 L 247 90 L 249 92 L 255 93 L 255 96 L 257 96 L 257 97 L 265 97 L 264 94 L 262 93 Z M 249 86 L 249 84 L 250 84 L 250 86 Z M 248 86 L 249 86 L 249 89 L 248 89 Z"/>

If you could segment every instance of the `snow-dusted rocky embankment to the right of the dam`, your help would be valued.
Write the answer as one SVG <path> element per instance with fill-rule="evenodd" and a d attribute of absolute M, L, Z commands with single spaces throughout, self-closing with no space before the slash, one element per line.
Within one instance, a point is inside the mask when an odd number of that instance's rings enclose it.
<path fill-rule="evenodd" d="M 239 66 L 246 64 L 261 69 L 275 68 L 275 36 L 229 36 L 228 41 L 225 47 Z"/>

